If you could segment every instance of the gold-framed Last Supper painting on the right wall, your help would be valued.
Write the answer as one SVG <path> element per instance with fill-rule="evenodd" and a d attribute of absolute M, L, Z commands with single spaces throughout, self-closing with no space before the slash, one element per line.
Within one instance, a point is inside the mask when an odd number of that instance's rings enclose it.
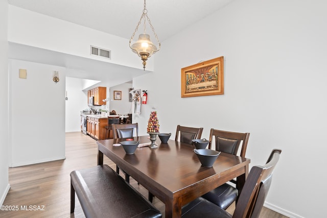
<path fill-rule="evenodd" d="M 224 94 L 224 57 L 181 69 L 181 97 Z"/>

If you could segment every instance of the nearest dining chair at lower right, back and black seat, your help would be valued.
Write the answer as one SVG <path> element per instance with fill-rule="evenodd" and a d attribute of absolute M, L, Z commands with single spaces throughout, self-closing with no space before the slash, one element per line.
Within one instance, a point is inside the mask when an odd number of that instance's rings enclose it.
<path fill-rule="evenodd" d="M 271 185 L 274 167 L 281 152 L 282 150 L 278 149 L 272 150 L 265 165 L 251 168 L 232 215 L 216 204 L 200 197 L 182 207 L 181 217 L 259 217 Z"/>

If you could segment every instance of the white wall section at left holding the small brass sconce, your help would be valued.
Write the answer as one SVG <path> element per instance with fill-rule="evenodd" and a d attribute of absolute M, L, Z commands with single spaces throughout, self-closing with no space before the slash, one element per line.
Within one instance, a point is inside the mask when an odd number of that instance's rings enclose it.
<path fill-rule="evenodd" d="M 19 69 L 27 79 L 18 78 Z M 9 100 L 9 165 L 64 159 L 65 68 L 9 60 Z"/>

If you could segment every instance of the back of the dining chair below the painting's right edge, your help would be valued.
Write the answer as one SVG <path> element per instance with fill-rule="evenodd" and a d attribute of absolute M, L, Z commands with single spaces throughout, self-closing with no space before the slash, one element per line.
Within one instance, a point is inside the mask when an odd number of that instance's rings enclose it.
<path fill-rule="evenodd" d="M 250 133 L 227 132 L 211 129 L 209 135 L 209 149 L 211 149 L 213 138 L 215 138 L 216 151 L 237 155 L 241 141 L 243 141 L 240 156 L 245 157 L 249 136 Z"/>

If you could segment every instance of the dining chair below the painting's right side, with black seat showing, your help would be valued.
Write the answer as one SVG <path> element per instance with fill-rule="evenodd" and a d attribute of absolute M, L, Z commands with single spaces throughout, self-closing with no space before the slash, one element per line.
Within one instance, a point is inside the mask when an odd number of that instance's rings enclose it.
<path fill-rule="evenodd" d="M 249 136 L 250 133 L 227 132 L 211 129 L 208 148 L 212 148 L 213 139 L 215 139 L 216 151 L 237 155 L 242 141 L 240 156 L 245 157 Z M 236 180 L 230 180 L 230 182 L 237 184 Z M 233 187 L 232 185 L 225 183 L 205 193 L 202 197 L 225 210 L 237 200 L 239 193 L 237 188 L 238 187 Z"/>

